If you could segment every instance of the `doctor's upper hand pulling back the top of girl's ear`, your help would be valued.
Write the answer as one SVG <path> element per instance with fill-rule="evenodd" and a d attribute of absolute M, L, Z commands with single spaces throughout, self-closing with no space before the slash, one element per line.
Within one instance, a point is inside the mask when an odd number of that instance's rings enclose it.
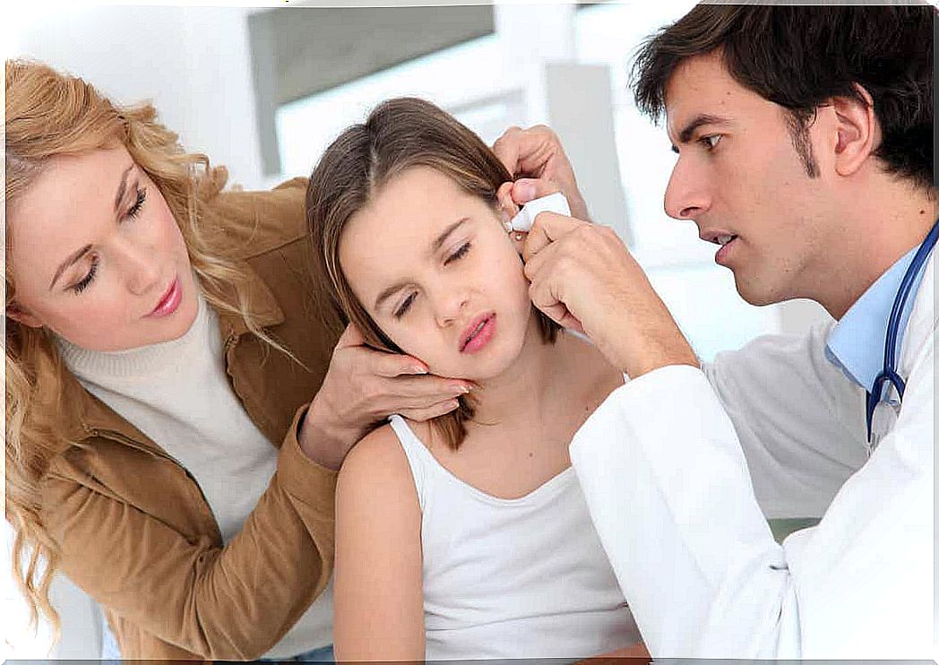
<path fill-rule="evenodd" d="M 512 199 L 522 206 L 533 198 L 546 196 L 559 190 L 567 198 L 571 213 L 579 219 L 588 219 L 587 204 L 561 139 L 545 125 L 527 130 L 510 127 L 492 146 L 492 151 L 515 180 Z"/>

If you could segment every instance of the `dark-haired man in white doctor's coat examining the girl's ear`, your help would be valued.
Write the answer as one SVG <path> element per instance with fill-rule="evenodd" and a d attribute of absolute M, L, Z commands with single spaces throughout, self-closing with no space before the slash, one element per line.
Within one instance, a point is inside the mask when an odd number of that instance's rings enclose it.
<path fill-rule="evenodd" d="M 937 655 L 934 14 L 702 5 L 639 53 L 639 107 L 678 153 L 670 216 L 720 245 L 747 302 L 809 298 L 837 323 L 700 367 L 608 227 L 531 230 L 534 302 L 632 379 L 571 458 L 654 657 Z M 586 218 L 550 131 L 495 149 L 539 178 L 517 202 L 560 186 Z M 767 517 L 821 521 L 778 545 Z"/>

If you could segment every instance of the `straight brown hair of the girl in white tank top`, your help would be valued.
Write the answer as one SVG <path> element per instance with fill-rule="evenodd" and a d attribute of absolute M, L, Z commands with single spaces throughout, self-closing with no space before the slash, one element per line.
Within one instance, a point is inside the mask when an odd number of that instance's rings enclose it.
<path fill-rule="evenodd" d="M 498 224 L 496 192 L 513 179 L 489 147 L 453 116 L 416 98 L 384 101 L 365 122 L 349 127 L 323 153 L 306 191 L 306 220 L 313 242 L 313 266 L 319 284 L 329 292 L 324 318 L 342 332 L 349 322 L 362 331 L 369 346 L 402 353 L 355 297 L 339 263 L 339 240 L 349 220 L 404 171 L 425 166 L 447 176 L 465 192 L 487 202 Z M 546 344 L 560 326 L 537 312 Z M 459 408 L 433 419 L 434 429 L 456 449 L 466 438 L 474 415 L 469 396 Z"/>

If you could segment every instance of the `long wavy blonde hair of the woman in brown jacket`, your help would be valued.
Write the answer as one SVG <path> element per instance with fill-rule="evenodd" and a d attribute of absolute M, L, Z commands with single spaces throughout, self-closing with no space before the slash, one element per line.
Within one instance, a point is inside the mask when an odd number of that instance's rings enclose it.
<path fill-rule="evenodd" d="M 81 78 L 38 62 L 8 60 L 6 70 L 6 209 L 13 209 L 51 158 L 126 147 L 173 212 L 206 301 L 217 311 L 242 317 L 251 332 L 280 348 L 249 314 L 247 273 L 238 261 L 213 254 L 201 233 L 202 204 L 222 191 L 225 169 L 211 167 L 203 154 L 185 152 L 177 134 L 157 121 L 149 103 L 119 106 Z M 4 231 L 8 239 L 6 222 Z M 9 255 L 8 240 L 6 249 Z M 39 486 L 50 460 L 80 442 L 69 441 L 65 424 L 57 418 L 61 379 L 68 370 L 50 332 L 20 325 L 7 316 L 16 301 L 16 285 L 6 258 L 4 276 L 6 512 L 16 532 L 13 573 L 29 603 L 32 624 L 42 612 L 57 635 L 59 621 L 49 601 L 49 586 L 60 552 L 42 522 Z"/>

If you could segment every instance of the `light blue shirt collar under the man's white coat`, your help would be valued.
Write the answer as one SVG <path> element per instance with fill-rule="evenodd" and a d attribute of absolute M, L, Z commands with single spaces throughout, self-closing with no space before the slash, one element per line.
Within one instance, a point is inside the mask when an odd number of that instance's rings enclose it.
<path fill-rule="evenodd" d="M 825 356 L 835 363 L 855 383 L 870 393 L 874 379 L 884 368 L 886 328 L 893 302 L 900 290 L 903 275 L 913 263 L 917 245 L 894 263 L 876 282 L 870 285 L 828 334 Z M 910 290 L 900 318 L 897 348 L 902 348 L 903 332 L 916 301 L 916 292 L 924 271 L 919 271 Z"/>

